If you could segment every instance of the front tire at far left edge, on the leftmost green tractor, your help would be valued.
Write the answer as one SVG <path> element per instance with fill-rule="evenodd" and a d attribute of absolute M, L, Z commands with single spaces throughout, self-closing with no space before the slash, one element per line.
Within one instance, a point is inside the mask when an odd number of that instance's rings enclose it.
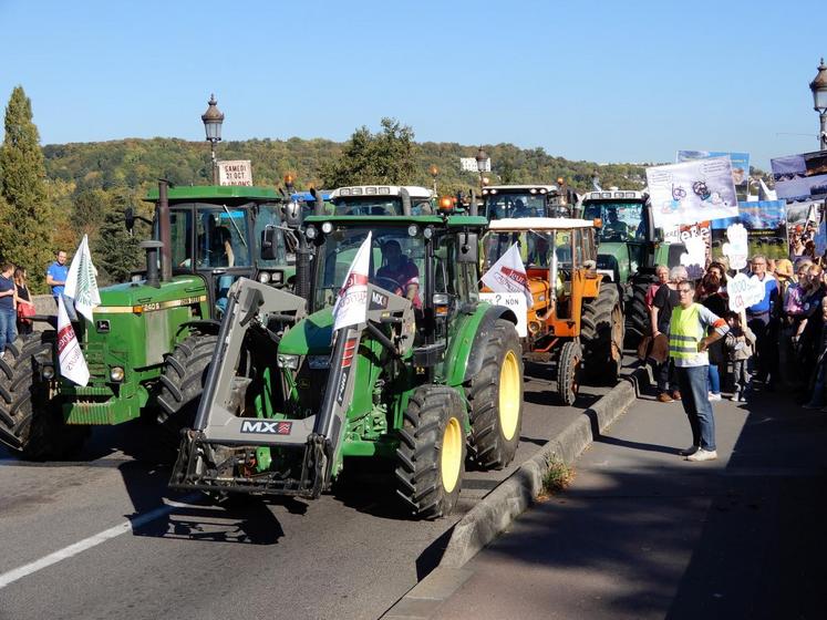
<path fill-rule="evenodd" d="M 63 421 L 60 401 L 40 379 L 42 364 L 56 365 L 54 341 L 53 330 L 19 338 L 0 359 L 0 437 L 31 461 L 70 458 L 90 432 Z"/>

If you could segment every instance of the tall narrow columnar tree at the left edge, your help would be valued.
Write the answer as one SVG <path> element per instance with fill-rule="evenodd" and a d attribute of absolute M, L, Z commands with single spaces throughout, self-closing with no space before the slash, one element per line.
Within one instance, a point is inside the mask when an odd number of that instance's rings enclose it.
<path fill-rule="evenodd" d="M 0 147 L 0 255 L 25 267 L 35 292 L 45 290 L 54 219 L 46 200 L 45 167 L 40 134 L 32 122 L 31 101 L 17 86 L 6 107 L 6 137 Z"/>

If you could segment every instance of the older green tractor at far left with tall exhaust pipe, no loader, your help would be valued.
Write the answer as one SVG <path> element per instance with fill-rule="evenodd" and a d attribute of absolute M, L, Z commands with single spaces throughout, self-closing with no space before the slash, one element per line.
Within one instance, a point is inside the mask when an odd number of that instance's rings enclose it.
<path fill-rule="evenodd" d="M 0 360 L 0 441 L 23 457 L 70 456 L 92 426 L 142 415 L 157 418 L 167 431 L 162 437 L 177 447 L 179 427 L 194 418 L 232 282 L 293 285 L 283 226 L 289 203 L 275 190 L 162 182 L 147 200 L 156 207 L 154 239 L 142 242 L 146 270 L 102 289 L 94 321 L 73 318 L 89 384 L 61 378 L 55 330 L 19 339 Z M 135 219 L 127 209 L 127 228 Z"/>

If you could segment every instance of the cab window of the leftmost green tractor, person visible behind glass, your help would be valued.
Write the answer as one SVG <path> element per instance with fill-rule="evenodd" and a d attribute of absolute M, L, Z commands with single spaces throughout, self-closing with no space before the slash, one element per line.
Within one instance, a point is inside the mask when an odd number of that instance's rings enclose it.
<path fill-rule="evenodd" d="M 198 206 L 196 226 L 197 269 L 250 266 L 245 210 Z"/>

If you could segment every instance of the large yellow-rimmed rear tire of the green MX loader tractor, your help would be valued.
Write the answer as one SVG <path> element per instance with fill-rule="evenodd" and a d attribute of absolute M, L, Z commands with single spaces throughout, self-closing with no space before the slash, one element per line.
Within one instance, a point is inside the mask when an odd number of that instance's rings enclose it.
<path fill-rule="evenodd" d="M 498 319 L 484 343 L 483 366 L 466 385 L 471 445 L 477 466 L 502 469 L 523 427 L 523 352 L 514 324 Z"/>

